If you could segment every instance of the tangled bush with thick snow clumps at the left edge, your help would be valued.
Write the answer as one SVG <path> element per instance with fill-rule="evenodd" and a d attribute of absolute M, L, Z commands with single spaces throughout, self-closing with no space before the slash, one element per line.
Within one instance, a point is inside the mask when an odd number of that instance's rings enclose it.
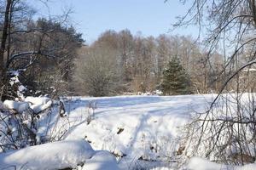
<path fill-rule="evenodd" d="M 61 101 L 26 97 L 23 101 L 5 100 L 0 104 L 0 146 L 3 152 L 59 140 L 67 131 L 64 127 L 55 127 L 60 117 L 65 117 Z M 60 114 L 56 114 L 58 111 Z"/>

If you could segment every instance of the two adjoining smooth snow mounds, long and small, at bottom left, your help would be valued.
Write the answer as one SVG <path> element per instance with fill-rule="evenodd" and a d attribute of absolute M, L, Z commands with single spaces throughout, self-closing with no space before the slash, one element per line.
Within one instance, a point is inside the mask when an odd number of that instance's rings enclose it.
<path fill-rule="evenodd" d="M 87 163 L 88 161 L 88 163 Z M 62 169 L 84 165 L 84 169 L 118 169 L 108 151 L 95 151 L 82 139 L 40 144 L 0 154 L 1 169 Z"/>

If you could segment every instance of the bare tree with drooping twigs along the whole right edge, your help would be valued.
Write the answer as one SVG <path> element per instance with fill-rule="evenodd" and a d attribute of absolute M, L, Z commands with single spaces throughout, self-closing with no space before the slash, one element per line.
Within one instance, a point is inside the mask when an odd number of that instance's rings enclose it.
<path fill-rule="evenodd" d="M 189 124 L 184 155 L 235 164 L 252 162 L 256 156 L 255 94 L 245 93 L 255 91 L 249 76 L 256 63 L 255 0 L 194 0 L 174 26 L 188 25 L 199 26 L 199 36 L 207 28 L 207 67 L 214 72 L 217 50 L 224 56 L 224 66 L 212 78 L 219 82 L 218 95 L 207 112 L 197 114 Z"/>

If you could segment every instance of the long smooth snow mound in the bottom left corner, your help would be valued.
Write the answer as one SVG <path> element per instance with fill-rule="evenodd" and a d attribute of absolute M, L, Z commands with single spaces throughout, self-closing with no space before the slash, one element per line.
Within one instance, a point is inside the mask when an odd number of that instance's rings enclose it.
<path fill-rule="evenodd" d="M 77 167 L 94 154 L 95 151 L 84 140 L 65 140 L 2 153 L 0 167 L 31 170 Z"/>

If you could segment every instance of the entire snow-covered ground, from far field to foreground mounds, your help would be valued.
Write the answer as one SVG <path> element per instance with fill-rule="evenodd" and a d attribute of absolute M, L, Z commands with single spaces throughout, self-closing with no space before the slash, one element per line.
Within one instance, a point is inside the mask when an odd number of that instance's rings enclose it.
<path fill-rule="evenodd" d="M 0 154 L 0 167 L 24 163 L 35 166 L 38 163 L 42 165 L 41 169 L 50 169 L 48 165 L 63 168 L 67 164 L 74 167 L 83 162 L 84 167 L 79 169 L 175 169 L 174 155 L 179 147 L 177 140 L 183 134 L 183 125 L 195 112 L 206 111 L 215 96 L 68 97 L 62 99 L 67 117 L 61 118 L 54 109 L 50 119 L 42 116 L 38 122 L 39 139 L 45 132 L 54 134 L 67 130 L 61 137 L 62 141 Z M 14 105 L 10 101 L 7 104 Z M 23 106 L 19 109 L 22 110 Z M 44 125 L 53 130 L 46 130 Z M 84 140 L 87 142 L 83 143 Z M 187 165 L 192 170 L 218 170 L 220 167 L 228 169 L 201 158 L 194 158 Z M 253 167 L 255 165 L 242 169 L 251 170 Z"/>

